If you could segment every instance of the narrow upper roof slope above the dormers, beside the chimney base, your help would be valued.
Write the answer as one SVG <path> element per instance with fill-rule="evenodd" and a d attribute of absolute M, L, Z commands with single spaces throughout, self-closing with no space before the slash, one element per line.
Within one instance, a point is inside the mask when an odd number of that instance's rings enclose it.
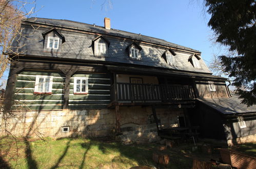
<path fill-rule="evenodd" d="M 117 30 L 117 29 L 110 29 L 107 30 L 104 27 L 101 26 L 93 26 L 90 24 L 85 24 L 85 23 L 80 23 L 80 22 L 75 22 L 72 20 L 66 20 L 66 19 L 49 19 L 49 18 L 28 18 L 27 20 L 32 20 L 32 22 L 35 23 L 41 23 L 41 24 L 51 24 L 53 26 L 61 26 L 61 27 L 70 27 L 74 29 L 82 29 L 82 30 L 87 30 L 91 32 L 97 32 L 97 33 L 107 33 L 110 35 L 115 35 L 115 36 L 121 36 L 121 37 L 128 37 L 140 41 L 148 41 L 150 43 L 155 43 L 155 44 L 160 44 L 160 45 L 165 45 L 169 47 L 174 47 L 174 48 L 180 48 L 180 49 L 185 49 L 185 50 L 190 50 L 194 52 L 199 52 L 198 50 L 194 50 L 191 48 L 187 48 L 181 45 L 169 43 L 166 40 L 155 38 L 155 37 L 150 37 L 150 36 L 145 36 L 141 34 L 136 34 L 136 33 L 131 33 L 131 32 L 126 32 L 122 30 Z"/>

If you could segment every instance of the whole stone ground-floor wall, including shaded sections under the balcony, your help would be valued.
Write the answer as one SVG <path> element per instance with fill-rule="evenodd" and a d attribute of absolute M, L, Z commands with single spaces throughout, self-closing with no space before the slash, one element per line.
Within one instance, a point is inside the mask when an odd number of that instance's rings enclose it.
<path fill-rule="evenodd" d="M 10 115 L 7 129 L 16 136 L 52 138 L 113 136 L 115 128 L 115 110 L 109 109 L 16 111 L 13 113 L 15 116 Z M 151 107 L 120 107 L 120 114 L 121 128 L 134 124 L 136 127 L 133 131 L 138 139 L 145 139 L 149 135 L 151 138 L 156 138 L 156 124 Z M 178 125 L 177 116 L 183 115 L 183 109 L 156 109 L 156 114 L 161 120 L 163 128 L 176 126 Z M 5 134 L 4 127 L 4 120 L 2 120 L 0 135 Z M 64 128 L 68 131 L 65 131 Z M 127 133 L 124 134 L 128 135 Z"/>

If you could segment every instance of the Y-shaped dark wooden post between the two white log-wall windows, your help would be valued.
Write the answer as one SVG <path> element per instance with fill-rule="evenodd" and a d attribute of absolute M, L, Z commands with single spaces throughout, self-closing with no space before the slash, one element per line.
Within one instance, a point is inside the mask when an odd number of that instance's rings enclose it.
<path fill-rule="evenodd" d="M 70 69 L 70 70 L 61 69 L 61 71 L 66 75 L 65 86 L 64 86 L 64 96 L 63 96 L 63 109 L 68 109 L 70 79 L 71 79 L 71 76 L 77 70 L 78 70 L 78 68 L 74 68 L 74 69 Z"/>

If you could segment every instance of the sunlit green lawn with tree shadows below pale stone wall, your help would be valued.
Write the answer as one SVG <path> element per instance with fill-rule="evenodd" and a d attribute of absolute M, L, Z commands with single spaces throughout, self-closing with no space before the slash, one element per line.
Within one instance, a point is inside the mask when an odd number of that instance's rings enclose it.
<path fill-rule="evenodd" d="M 152 150 L 144 146 L 123 145 L 90 139 L 64 138 L 46 141 L 23 141 L 2 138 L 2 166 L 11 168 L 129 168 L 154 165 Z M 1 163 L 1 159 L 0 159 Z"/>

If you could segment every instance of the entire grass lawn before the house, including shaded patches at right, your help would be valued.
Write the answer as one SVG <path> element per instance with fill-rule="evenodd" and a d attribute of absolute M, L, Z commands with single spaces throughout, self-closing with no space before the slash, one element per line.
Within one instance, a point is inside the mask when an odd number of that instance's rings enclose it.
<path fill-rule="evenodd" d="M 242 145 L 241 151 L 254 151 Z M 165 168 L 191 168 L 193 158 L 218 159 L 219 152 L 207 154 L 200 149 L 192 151 L 192 143 L 169 148 L 162 153 L 170 157 Z M 0 138 L 0 168 L 130 168 L 149 165 L 164 168 L 152 161 L 152 153 L 159 144 L 124 145 L 83 138 L 29 140 Z M 242 150 L 243 149 L 243 150 Z"/>

